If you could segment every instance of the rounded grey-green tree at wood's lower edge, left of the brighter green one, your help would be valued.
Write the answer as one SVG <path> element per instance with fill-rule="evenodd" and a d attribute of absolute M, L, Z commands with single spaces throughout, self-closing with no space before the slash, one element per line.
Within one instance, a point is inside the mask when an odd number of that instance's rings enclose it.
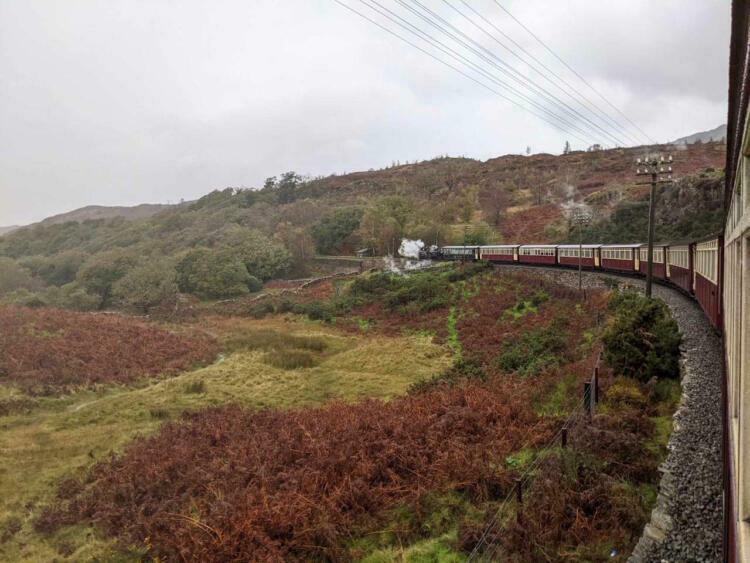
<path fill-rule="evenodd" d="M 171 264 L 164 262 L 151 260 L 132 268 L 112 287 L 113 297 L 144 313 L 158 305 L 174 303 L 176 272 Z"/>

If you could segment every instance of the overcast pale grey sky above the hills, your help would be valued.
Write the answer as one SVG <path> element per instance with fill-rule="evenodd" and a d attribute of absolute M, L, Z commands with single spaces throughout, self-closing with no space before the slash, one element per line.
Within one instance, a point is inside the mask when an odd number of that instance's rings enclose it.
<path fill-rule="evenodd" d="M 396 29 L 360 0 L 342 1 Z M 588 123 L 571 110 L 602 126 L 467 8 L 589 107 L 611 109 L 494 0 L 420 1 L 491 53 L 462 56 L 510 82 L 490 66 L 497 57 L 569 113 L 524 90 L 543 109 L 575 127 Z M 449 44 L 396 0 L 378 2 Z M 652 138 L 726 121 L 729 0 L 499 2 Z M 527 146 L 557 153 L 566 139 L 585 146 L 575 134 L 607 142 L 600 133 L 559 131 L 333 0 L 0 0 L 0 225 L 260 186 L 286 170 L 327 175 Z"/>

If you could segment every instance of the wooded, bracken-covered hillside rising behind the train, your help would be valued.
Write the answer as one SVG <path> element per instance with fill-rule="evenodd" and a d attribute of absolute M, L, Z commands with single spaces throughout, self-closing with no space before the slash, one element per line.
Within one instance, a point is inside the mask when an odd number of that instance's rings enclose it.
<path fill-rule="evenodd" d="M 403 237 L 439 244 L 564 241 L 574 235 L 570 211 L 581 206 L 594 217 L 587 240 L 638 242 L 646 236 L 648 188 L 636 185 L 634 167 L 645 151 L 485 162 L 441 157 L 314 179 L 288 172 L 259 190 L 226 188 L 180 206 L 130 208 L 131 220 L 93 218 L 113 208 L 84 208 L 67 214 L 80 221 L 57 216 L 0 237 L 0 295 L 148 311 L 178 290 L 227 298 L 270 279 L 308 275 L 315 253 L 394 253 Z M 680 180 L 659 191 L 659 238 L 719 228 L 724 153 L 723 143 L 674 150 Z"/>

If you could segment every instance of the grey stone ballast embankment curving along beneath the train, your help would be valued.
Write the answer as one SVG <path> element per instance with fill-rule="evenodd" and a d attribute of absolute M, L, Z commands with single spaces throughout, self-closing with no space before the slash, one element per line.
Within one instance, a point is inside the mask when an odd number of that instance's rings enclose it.
<path fill-rule="evenodd" d="M 578 272 L 559 268 L 503 265 L 533 270 L 578 287 Z M 603 287 L 607 277 L 642 288 L 643 280 L 584 272 L 584 288 Z M 674 415 L 668 454 L 660 467 L 659 495 L 629 560 L 640 562 L 720 561 L 722 554 L 721 340 L 697 302 L 670 287 L 654 295 L 672 311 L 682 344 L 682 394 Z"/>

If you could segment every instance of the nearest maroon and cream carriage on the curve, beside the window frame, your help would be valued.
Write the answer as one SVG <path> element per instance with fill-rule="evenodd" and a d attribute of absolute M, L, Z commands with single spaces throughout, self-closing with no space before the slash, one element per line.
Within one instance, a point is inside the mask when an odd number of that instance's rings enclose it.
<path fill-rule="evenodd" d="M 693 293 L 714 328 L 721 327 L 721 264 L 723 241 L 713 236 L 693 245 Z"/>

